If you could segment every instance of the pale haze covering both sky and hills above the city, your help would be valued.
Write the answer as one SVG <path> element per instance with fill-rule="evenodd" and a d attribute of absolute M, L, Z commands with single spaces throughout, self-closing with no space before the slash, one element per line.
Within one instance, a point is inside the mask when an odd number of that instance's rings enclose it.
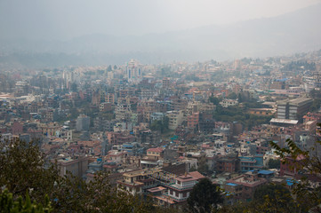
<path fill-rule="evenodd" d="M 320 11 L 315 0 L 1 1 L 0 44 L 49 53 L 47 66 L 266 57 L 320 48 Z"/>

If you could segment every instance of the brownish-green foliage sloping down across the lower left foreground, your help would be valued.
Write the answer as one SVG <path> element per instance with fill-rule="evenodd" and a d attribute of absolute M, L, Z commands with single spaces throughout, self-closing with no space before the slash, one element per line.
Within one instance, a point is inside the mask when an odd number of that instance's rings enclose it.
<path fill-rule="evenodd" d="M 31 200 L 39 202 L 39 205 L 42 203 L 44 207 L 48 207 L 49 198 L 52 212 L 156 211 L 150 201 L 111 187 L 107 173 L 96 174 L 88 183 L 84 179 L 74 177 L 71 173 L 60 177 L 55 164 L 48 162 L 50 166 L 44 169 L 44 155 L 33 143 L 17 139 L 2 143 L 0 146 L 2 151 L 0 152 L 0 185 L 7 188 L 6 192 L 12 194 L 5 195 L 8 197 L 5 201 L 9 201 L 11 197 L 10 203 L 15 201 L 22 203 L 21 199 L 25 198 L 29 203 L 29 195 L 25 196 L 25 194 L 30 191 Z M 1 193 L 5 192 L 1 191 Z M 39 209 L 41 210 L 40 207 Z"/>

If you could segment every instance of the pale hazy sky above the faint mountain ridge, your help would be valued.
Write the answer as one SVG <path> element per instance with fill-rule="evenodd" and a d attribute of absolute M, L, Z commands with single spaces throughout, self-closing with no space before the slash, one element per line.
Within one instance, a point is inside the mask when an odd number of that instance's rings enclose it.
<path fill-rule="evenodd" d="M 320 0 L 0 0 L 0 37 L 144 35 L 293 12 Z"/>

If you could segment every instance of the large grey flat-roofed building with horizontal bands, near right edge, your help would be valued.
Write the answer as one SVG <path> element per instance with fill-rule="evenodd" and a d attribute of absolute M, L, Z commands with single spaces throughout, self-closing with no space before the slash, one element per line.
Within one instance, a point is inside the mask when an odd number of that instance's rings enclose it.
<path fill-rule="evenodd" d="M 277 102 L 277 118 L 299 120 L 306 114 L 313 100 L 308 98 L 285 99 Z"/>

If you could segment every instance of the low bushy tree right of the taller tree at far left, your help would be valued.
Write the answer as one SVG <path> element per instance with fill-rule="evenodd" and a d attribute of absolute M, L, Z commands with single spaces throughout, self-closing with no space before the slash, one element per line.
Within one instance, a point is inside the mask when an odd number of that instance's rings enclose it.
<path fill-rule="evenodd" d="M 57 182 L 55 209 L 60 212 L 149 212 L 152 205 L 139 196 L 109 185 L 107 173 L 97 173 L 88 183 L 70 174 Z"/>

